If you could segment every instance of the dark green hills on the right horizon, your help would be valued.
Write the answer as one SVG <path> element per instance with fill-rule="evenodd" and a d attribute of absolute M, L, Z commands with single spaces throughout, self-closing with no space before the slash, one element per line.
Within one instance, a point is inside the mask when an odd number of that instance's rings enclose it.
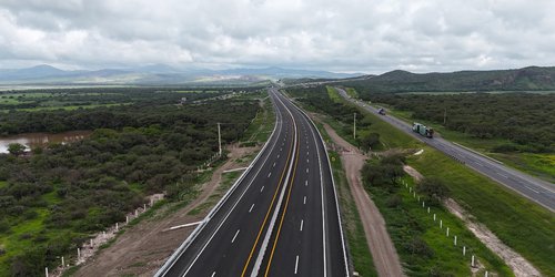
<path fill-rule="evenodd" d="M 555 91 L 555 66 L 424 74 L 395 70 L 343 84 L 365 92 Z"/>

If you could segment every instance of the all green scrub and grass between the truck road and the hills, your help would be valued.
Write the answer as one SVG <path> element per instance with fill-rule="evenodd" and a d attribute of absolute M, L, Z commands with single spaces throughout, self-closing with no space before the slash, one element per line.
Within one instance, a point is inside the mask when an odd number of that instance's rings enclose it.
<path fill-rule="evenodd" d="M 555 182 L 553 93 L 366 93 L 363 99 L 407 122 L 431 125 L 447 140 Z"/>

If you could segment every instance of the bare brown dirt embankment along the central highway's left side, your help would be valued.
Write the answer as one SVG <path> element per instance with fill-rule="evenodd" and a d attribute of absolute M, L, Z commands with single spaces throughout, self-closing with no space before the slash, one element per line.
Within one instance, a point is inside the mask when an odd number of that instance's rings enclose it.
<path fill-rule="evenodd" d="M 189 215 L 189 212 L 204 203 L 215 192 L 221 183 L 222 172 L 248 165 L 246 158 L 242 157 L 253 154 L 258 148 L 229 147 L 228 150 L 229 161 L 216 168 L 212 178 L 202 185 L 196 199 L 168 216 L 164 216 L 168 211 L 161 208 L 157 215 L 131 227 L 113 245 L 92 257 L 74 276 L 154 275 L 196 226 L 164 230 L 172 226 L 202 220 L 210 208 L 195 215 Z M 238 158 L 244 161 L 238 162 Z"/>

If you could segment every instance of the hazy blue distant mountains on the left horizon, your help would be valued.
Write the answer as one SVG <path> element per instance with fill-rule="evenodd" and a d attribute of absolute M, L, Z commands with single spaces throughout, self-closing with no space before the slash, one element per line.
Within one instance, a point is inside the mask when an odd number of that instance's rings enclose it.
<path fill-rule="evenodd" d="M 26 69 L 0 69 L 0 84 L 249 84 L 278 79 L 342 79 L 361 74 L 282 68 L 231 70 L 179 70 L 165 64 L 131 69 L 60 70 L 41 64 Z"/>

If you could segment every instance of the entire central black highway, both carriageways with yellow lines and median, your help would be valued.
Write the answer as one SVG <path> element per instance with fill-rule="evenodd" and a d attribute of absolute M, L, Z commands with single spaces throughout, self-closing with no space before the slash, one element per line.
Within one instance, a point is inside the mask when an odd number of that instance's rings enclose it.
<path fill-rule="evenodd" d="M 157 276 L 350 276 L 323 141 L 276 89 L 269 94 L 270 140 Z"/>

